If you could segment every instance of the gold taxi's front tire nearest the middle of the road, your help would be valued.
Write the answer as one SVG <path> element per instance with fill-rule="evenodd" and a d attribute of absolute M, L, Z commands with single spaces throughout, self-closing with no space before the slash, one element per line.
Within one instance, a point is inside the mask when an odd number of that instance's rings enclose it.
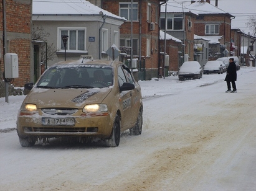
<path fill-rule="evenodd" d="M 110 139 L 106 140 L 106 145 L 108 147 L 117 147 L 120 143 L 120 137 L 121 137 L 120 117 L 116 115 L 115 121 L 113 123 L 112 133 L 111 133 Z"/>

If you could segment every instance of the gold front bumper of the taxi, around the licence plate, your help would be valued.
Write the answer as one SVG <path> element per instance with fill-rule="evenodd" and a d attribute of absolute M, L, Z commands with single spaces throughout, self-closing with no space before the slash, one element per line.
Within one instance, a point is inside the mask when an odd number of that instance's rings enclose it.
<path fill-rule="evenodd" d="M 42 118 L 73 118 L 74 125 L 42 125 Z M 72 116 L 19 115 L 17 117 L 17 133 L 19 137 L 53 138 L 53 137 L 98 137 L 108 138 L 111 135 L 113 120 L 110 114 L 105 116 L 80 116 L 78 112 Z"/>

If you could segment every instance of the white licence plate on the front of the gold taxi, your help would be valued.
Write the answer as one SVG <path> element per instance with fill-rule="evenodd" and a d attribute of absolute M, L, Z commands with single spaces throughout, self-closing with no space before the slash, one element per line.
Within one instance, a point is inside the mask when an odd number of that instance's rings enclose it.
<path fill-rule="evenodd" d="M 66 125 L 74 126 L 74 118 L 42 118 L 42 125 Z"/>

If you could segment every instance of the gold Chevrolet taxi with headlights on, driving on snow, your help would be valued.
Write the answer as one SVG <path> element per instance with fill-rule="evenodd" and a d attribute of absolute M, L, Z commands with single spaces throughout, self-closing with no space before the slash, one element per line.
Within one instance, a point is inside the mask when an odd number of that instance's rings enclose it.
<path fill-rule="evenodd" d="M 119 61 L 62 61 L 48 68 L 31 90 L 17 116 L 21 146 L 49 138 L 120 143 L 122 131 L 140 135 L 143 124 L 141 88 Z"/>

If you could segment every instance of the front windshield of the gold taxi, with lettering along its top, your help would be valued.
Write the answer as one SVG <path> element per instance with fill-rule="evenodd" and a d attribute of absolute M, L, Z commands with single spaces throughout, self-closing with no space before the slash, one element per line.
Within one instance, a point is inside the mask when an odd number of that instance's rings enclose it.
<path fill-rule="evenodd" d="M 113 69 L 109 66 L 54 66 L 37 82 L 38 88 L 94 88 L 113 85 Z"/>

